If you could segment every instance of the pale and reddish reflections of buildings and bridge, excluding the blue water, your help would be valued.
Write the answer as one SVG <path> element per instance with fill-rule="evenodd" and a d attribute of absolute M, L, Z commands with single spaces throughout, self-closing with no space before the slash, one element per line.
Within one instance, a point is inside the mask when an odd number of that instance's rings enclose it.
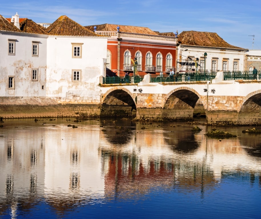
<path fill-rule="evenodd" d="M 231 177 L 257 180 L 260 189 L 260 137 L 218 141 L 204 135 L 208 127 L 192 133 L 186 123 L 82 121 L 72 129 L 70 122 L 7 121 L 0 129 L 0 215 L 31 213 L 44 201 L 64 216 L 79 206 L 146 200 L 158 190 L 204 199 Z"/>

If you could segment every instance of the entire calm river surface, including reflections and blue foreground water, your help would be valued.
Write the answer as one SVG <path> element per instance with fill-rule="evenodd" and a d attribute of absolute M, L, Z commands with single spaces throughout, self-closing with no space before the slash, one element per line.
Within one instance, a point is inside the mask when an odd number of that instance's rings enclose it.
<path fill-rule="evenodd" d="M 120 118 L 0 125 L 0 218 L 261 217 L 261 134 L 242 133 L 249 127 L 193 133 L 187 122 Z M 237 137 L 204 135 L 213 128 Z"/>

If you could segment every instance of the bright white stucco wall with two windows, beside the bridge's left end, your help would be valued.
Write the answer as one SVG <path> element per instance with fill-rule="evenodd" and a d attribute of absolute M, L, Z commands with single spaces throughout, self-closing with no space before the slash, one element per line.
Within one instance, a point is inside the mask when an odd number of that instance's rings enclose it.
<path fill-rule="evenodd" d="M 82 57 L 72 58 L 72 43 L 82 44 Z M 65 101 L 66 95 L 100 98 L 99 76 L 105 76 L 107 38 L 49 36 L 47 39 L 47 97 Z M 72 70 L 81 70 L 80 82 Z"/>

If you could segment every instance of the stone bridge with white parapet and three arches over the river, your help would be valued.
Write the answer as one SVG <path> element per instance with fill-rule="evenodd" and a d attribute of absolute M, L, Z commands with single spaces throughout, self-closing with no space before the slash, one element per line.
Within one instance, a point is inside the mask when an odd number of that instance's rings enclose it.
<path fill-rule="evenodd" d="M 101 86 L 101 115 L 132 115 L 137 119 L 189 120 L 202 104 L 209 124 L 261 124 L 259 80 L 150 82 Z"/>

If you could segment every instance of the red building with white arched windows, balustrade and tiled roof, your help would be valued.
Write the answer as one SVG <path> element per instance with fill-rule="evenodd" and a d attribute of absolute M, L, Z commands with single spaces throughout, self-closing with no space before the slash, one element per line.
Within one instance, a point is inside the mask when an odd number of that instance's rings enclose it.
<path fill-rule="evenodd" d="M 92 25 L 85 26 L 98 35 L 108 36 L 107 43 L 107 76 L 124 76 L 133 73 L 133 61 L 137 59 L 137 74 L 160 74 L 175 70 L 177 56 L 176 35 L 164 35 L 146 27 L 125 25 Z M 176 33 L 177 34 L 177 33 Z"/>

